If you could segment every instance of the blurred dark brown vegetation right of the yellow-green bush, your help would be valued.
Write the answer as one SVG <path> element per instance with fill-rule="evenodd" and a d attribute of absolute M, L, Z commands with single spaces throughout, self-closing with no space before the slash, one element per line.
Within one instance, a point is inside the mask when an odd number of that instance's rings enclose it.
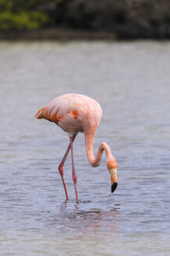
<path fill-rule="evenodd" d="M 170 0 L 62 0 L 56 22 L 119 38 L 170 37 Z"/>

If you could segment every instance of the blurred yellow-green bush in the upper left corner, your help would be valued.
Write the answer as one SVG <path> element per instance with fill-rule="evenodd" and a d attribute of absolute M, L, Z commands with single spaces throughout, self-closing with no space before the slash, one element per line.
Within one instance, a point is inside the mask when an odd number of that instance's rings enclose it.
<path fill-rule="evenodd" d="M 55 21 L 55 1 L 0 0 L 0 30 L 37 29 Z"/>

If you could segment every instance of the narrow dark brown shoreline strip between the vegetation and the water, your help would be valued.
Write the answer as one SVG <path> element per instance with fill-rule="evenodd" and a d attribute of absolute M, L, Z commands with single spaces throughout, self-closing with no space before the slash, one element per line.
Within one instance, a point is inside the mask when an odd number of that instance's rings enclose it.
<path fill-rule="evenodd" d="M 72 30 L 66 28 L 45 28 L 38 30 L 0 30 L 0 41 L 169 41 L 170 37 L 127 37 L 104 30 Z"/>

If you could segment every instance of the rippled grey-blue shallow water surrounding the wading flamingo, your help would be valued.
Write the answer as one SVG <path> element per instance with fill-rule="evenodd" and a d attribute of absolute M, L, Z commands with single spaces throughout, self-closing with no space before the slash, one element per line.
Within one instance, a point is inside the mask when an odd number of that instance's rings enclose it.
<path fill-rule="evenodd" d="M 1 255 L 169 255 L 170 43 L 0 43 Z M 103 155 L 87 162 L 74 143 L 80 204 L 70 155 L 65 201 L 58 165 L 69 138 L 33 116 L 60 94 L 87 94 L 103 116 L 119 164 L 118 187 Z"/>

